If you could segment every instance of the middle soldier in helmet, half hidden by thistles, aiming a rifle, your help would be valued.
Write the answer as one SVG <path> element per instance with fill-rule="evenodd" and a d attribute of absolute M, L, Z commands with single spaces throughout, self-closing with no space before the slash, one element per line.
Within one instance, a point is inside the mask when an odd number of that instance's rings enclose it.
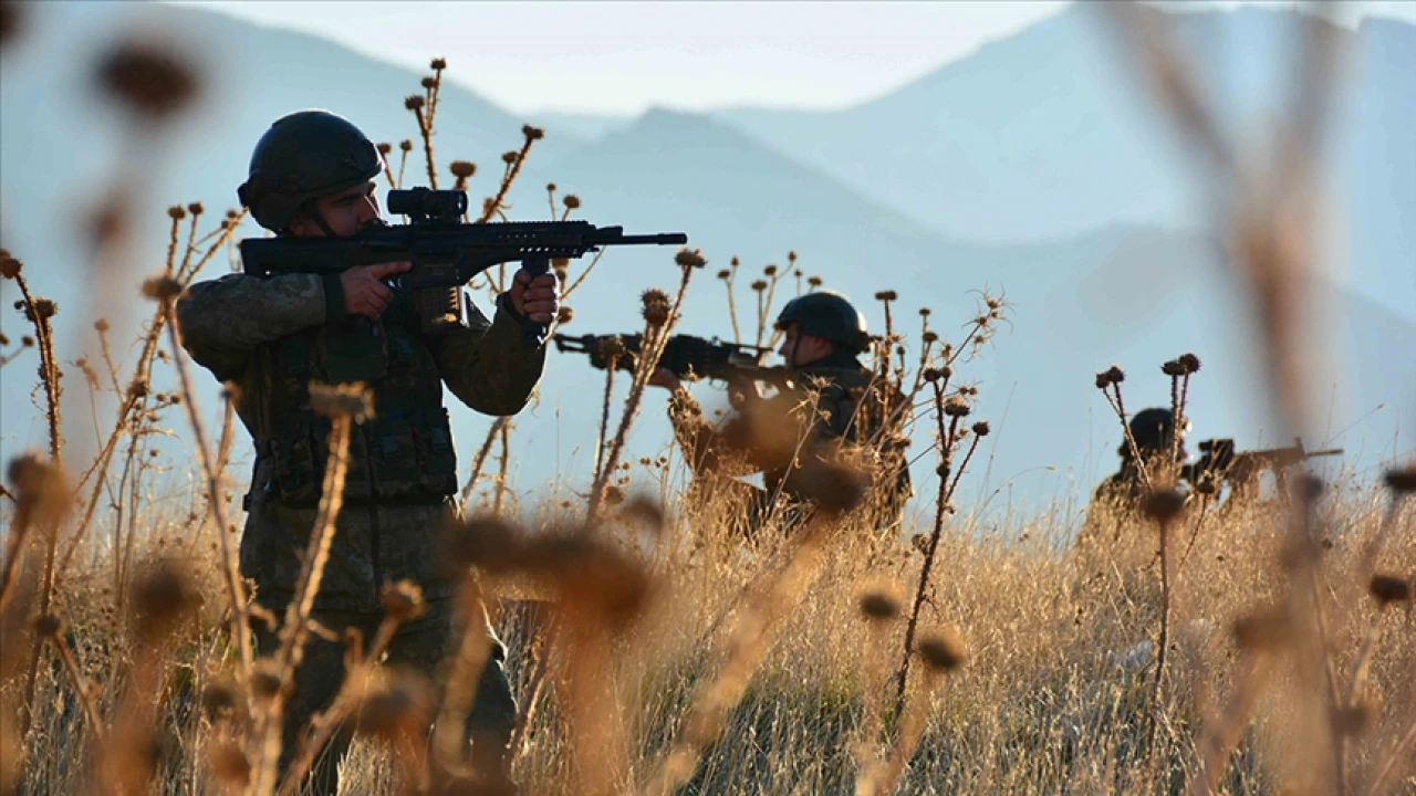
<path fill-rule="evenodd" d="M 772 517 L 790 528 L 801 521 L 810 501 L 810 459 L 827 460 L 843 446 L 855 452 L 871 448 L 871 436 L 885 421 L 878 384 L 858 357 L 869 346 L 865 319 L 840 293 L 813 292 L 782 309 L 776 329 L 783 331 L 777 353 L 790 374 L 773 378 L 780 388 L 763 398 L 758 380 L 731 378 L 728 398 L 738 411 L 722 428 L 702 416 L 702 408 L 670 368 L 660 367 L 649 384 L 670 391 L 668 418 L 695 486 L 719 494 L 724 487 L 746 503 L 746 530 L 760 528 Z M 903 448 L 881 445 L 881 460 L 871 466 L 884 486 L 878 521 L 895 527 L 910 496 L 909 467 Z M 762 472 L 766 489 L 750 487 L 732 476 Z M 729 483 L 731 482 L 731 483 Z"/>

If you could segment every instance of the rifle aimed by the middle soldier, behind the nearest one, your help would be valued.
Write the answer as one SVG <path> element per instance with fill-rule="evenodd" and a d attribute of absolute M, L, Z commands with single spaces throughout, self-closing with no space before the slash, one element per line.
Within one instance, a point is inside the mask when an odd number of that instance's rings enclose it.
<path fill-rule="evenodd" d="M 617 341 L 617 343 L 616 343 Z M 639 334 L 556 334 L 555 347 L 571 354 L 589 354 L 590 367 L 606 370 L 612 361 L 615 370 L 634 371 L 639 363 L 641 339 Z M 616 354 L 613 356 L 612 354 Z M 789 381 L 786 368 L 763 367 L 762 360 L 772 348 L 722 343 L 718 339 L 705 340 L 691 334 L 674 334 L 664 346 L 658 367 L 680 378 L 707 378 L 709 381 L 763 381 L 782 385 Z"/>

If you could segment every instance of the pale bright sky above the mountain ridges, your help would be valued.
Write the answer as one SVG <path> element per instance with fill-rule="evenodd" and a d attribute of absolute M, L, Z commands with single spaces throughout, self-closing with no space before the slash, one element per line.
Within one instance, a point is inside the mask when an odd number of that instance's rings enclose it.
<path fill-rule="evenodd" d="M 443 55 L 449 78 L 514 113 L 633 115 L 651 105 L 850 106 L 1070 3 L 191 4 L 321 35 L 415 69 Z M 1345 3 L 1345 10 L 1416 23 L 1416 0 Z"/>

